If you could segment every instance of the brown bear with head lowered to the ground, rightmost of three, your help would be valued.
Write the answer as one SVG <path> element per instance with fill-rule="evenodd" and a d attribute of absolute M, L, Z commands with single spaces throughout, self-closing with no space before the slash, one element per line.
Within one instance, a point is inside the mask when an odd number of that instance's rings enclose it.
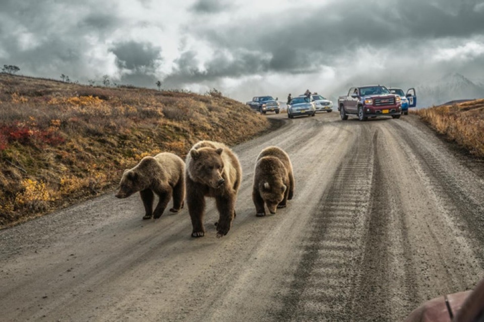
<path fill-rule="evenodd" d="M 294 175 L 289 155 L 276 146 L 263 149 L 257 156 L 252 189 L 256 216 L 266 215 L 264 203 L 275 214 L 276 208 L 286 207 L 293 194 Z"/>

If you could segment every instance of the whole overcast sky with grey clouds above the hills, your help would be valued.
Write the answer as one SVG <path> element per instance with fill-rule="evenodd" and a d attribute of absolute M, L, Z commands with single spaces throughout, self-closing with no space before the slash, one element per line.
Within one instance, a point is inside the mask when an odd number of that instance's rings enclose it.
<path fill-rule="evenodd" d="M 205 93 L 484 78 L 484 0 L 0 0 L 0 65 Z"/>

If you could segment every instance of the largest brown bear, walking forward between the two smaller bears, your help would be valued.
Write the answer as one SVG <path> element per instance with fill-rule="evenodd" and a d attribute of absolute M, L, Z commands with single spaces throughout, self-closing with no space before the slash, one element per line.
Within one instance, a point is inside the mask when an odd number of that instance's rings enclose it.
<path fill-rule="evenodd" d="M 215 198 L 219 212 L 217 237 L 226 235 L 235 217 L 235 200 L 242 177 L 237 156 L 223 143 L 200 141 L 188 153 L 186 165 L 192 237 L 205 235 L 205 197 Z"/>

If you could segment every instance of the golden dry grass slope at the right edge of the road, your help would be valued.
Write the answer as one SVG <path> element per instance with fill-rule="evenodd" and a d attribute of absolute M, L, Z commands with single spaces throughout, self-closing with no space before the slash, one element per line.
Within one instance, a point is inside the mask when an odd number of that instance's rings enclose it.
<path fill-rule="evenodd" d="M 417 110 L 437 132 L 484 156 L 484 99 Z"/>

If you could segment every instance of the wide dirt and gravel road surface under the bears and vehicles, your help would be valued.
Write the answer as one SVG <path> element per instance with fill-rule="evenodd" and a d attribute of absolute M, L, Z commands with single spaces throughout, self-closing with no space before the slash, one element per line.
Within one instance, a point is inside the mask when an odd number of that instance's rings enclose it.
<path fill-rule="evenodd" d="M 142 220 L 114 194 L 0 231 L 3 321 L 401 321 L 484 276 L 484 165 L 415 116 L 287 119 L 233 147 L 237 217 L 191 238 L 185 208 Z M 256 217 L 258 153 L 291 157 L 288 207 Z M 171 203 L 170 203 L 171 204 Z"/>

